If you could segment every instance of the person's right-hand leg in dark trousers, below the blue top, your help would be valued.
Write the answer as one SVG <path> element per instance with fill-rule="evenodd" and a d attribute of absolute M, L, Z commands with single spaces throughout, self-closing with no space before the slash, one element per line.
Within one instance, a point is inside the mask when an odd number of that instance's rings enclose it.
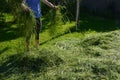
<path fill-rule="evenodd" d="M 35 27 L 35 46 L 38 48 L 39 46 L 39 33 L 41 30 L 41 21 L 39 18 L 36 18 L 36 27 Z"/>

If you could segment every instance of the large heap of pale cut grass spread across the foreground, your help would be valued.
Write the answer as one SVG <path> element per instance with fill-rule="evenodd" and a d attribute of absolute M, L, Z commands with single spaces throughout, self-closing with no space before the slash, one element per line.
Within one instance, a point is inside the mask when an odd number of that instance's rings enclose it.
<path fill-rule="evenodd" d="M 119 80 L 119 41 L 119 31 L 66 34 L 41 45 L 39 51 L 17 53 L 5 61 L 1 57 L 0 77 L 3 80 Z"/>

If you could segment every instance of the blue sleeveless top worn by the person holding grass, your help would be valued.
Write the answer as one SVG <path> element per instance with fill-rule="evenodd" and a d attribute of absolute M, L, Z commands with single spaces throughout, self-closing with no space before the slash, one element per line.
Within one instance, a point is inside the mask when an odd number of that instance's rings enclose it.
<path fill-rule="evenodd" d="M 33 10 L 35 17 L 41 17 L 40 0 L 26 0 L 26 4 Z"/>

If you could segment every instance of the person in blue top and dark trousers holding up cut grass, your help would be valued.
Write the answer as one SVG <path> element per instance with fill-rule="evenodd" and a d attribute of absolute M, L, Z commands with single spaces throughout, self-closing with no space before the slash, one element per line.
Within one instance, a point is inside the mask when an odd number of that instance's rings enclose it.
<path fill-rule="evenodd" d="M 48 0 L 41 0 L 43 3 L 48 5 L 53 9 L 57 9 L 56 5 L 53 5 Z M 22 8 L 25 12 L 29 12 L 30 10 L 33 11 L 35 18 L 36 18 L 36 26 L 35 26 L 35 46 L 38 48 L 39 46 L 39 33 L 41 30 L 41 7 L 40 7 L 40 0 L 23 0 L 22 1 Z M 29 51 L 30 48 L 30 36 L 26 37 L 26 49 Z"/>

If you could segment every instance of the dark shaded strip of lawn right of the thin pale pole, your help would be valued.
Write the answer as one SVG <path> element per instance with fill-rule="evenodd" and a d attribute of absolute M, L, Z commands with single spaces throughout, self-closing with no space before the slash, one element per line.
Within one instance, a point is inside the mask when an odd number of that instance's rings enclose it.
<path fill-rule="evenodd" d="M 97 32 L 109 32 L 120 29 L 120 21 L 106 19 L 97 16 L 81 15 L 79 31 L 84 32 L 94 30 Z"/>

